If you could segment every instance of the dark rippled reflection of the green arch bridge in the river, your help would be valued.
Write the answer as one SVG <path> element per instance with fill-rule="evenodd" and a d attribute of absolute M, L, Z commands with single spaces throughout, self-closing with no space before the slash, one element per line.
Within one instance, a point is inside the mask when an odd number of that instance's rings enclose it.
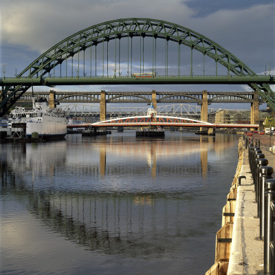
<path fill-rule="evenodd" d="M 159 234 L 170 237 L 188 234 L 173 217 L 182 211 L 182 204 L 192 196 L 190 193 L 182 196 L 177 193 L 39 191 L 28 188 L 5 162 L 1 162 L 0 175 L 1 192 L 17 197 L 53 232 L 87 250 L 127 257 L 157 256 L 177 245 L 176 241 L 156 242 Z M 174 198 L 172 203 L 169 197 Z"/>

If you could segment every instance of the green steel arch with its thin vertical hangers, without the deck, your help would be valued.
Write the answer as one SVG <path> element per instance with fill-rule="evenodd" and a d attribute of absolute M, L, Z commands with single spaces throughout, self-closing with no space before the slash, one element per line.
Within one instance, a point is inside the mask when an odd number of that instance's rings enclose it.
<path fill-rule="evenodd" d="M 96 48 L 102 43 L 104 48 L 104 43 L 107 43 L 107 71 L 108 71 L 108 45 L 109 41 L 115 41 L 115 66 L 117 64 L 117 41 L 120 52 L 120 40 L 126 39 L 128 41 L 128 67 L 129 67 L 129 41 L 132 41 L 133 37 L 140 37 L 140 72 L 142 71 L 141 67 L 141 56 L 142 51 L 144 51 L 144 47 L 142 48 L 142 41 L 144 42 L 144 37 L 151 37 L 155 43 L 157 39 L 164 39 L 166 43 L 166 77 L 168 76 L 168 41 L 172 41 L 177 43 L 178 45 L 178 76 L 181 77 L 180 74 L 180 50 L 181 45 L 190 47 L 190 75 L 192 76 L 192 52 L 193 50 L 200 52 L 203 55 L 203 72 L 204 72 L 204 60 L 205 57 L 208 56 L 216 63 L 216 76 L 217 76 L 217 64 L 225 67 L 228 72 L 228 76 L 250 76 L 253 77 L 253 81 L 256 81 L 257 75 L 250 69 L 245 63 L 243 63 L 239 58 L 234 56 L 228 50 L 225 50 L 224 47 L 221 47 L 218 43 L 215 43 L 211 39 L 208 39 L 206 36 L 199 34 L 193 30 L 185 28 L 181 25 L 177 25 L 175 23 L 170 23 L 167 21 L 156 20 L 156 19 L 144 19 L 144 18 L 129 18 L 129 19 L 117 19 L 113 21 L 107 21 L 104 23 L 100 23 L 97 25 L 92 25 L 85 30 L 81 30 L 80 32 L 76 32 L 76 34 L 72 34 L 67 37 L 60 43 L 57 43 L 50 50 L 41 54 L 39 58 L 36 58 L 34 62 L 32 62 L 28 67 L 23 69 L 23 71 L 17 76 L 18 82 L 20 84 L 12 84 L 6 85 L 3 88 L 3 91 L 0 95 L 1 103 L 0 103 L 0 116 L 5 114 L 8 109 L 16 102 L 21 95 L 25 93 L 34 83 L 30 82 L 30 80 L 34 80 L 34 78 L 41 78 L 41 82 L 38 85 L 47 85 L 46 82 L 42 82 L 43 76 L 46 74 L 53 73 L 56 74 L 56 71 L 60 69 L 61 65 L 66 63 L 66 78 L 67 78 L 67 61 L 69 58 L 73 58 L 78 55 L 78 71 L 79 71 L 79 54 L 80 52 L 83 54 L 84 60 L 84 70 L 85 70 L 85 52 L 87 52 L 88 48 Z M 154 42 L 153 42 L 154 43 Z M 132 46 L 132 44 L 131 44 Z M 153 46 L 154 47 L 154 46 Z M 106 49 L 106 47 L 105 47 Z M 103 50 L 104 52 L 104 50 Z M 153 64 L 152 70 L 154 72 L 156 67 L 156 57 L 154 58 L 154 50 L 153 50 Z M 144 56 L 143 56 L 144 58 Z M 120 54 L 118 56 L 120 59 Z M 118 61 L 120 66 L 120 60 Z M 143 63 L 144 65 L 144 63 Z M 103 54 L 103 67 L 104 67 L 104 54 Z M 73 65 L 72 65 L 73 68 Z M 95 67 L 96 69 L 96 67 Z M 115 67 L 115 72 L 117 68 Z M 118 68 L 120 72 L 120 69 Z M 104 70 L 103 70 L 104 72 Z M 152 73 L 153 73 L 152 72 Z M 129 73 L 129 69 L 128 69 Z M 72 76 L 74 72 L 72 69 Z M 83 75 L 85 75 L 85 71 Z M 104 74 L 104 73 L 103 73 Z M 108 73 L 107 73 L 108 74 Z M 115 73 L 116 74 L 116 73 Z M 129 76 L 129 75 L 128 75 Z M 97 73 L 94 78 L 97 77 Z M 92 76 L 90 76 L 92 78 Z M 124 78 L 125 79 L 125 78 Z M 229 78 L 228 78 L 229 79 Z M 24 80 L 25 83 L 24 84 Z M 28 80 L 28 81 L 27 81 Z M 106 80 L 104 80 L 106 81 Z M 204 80 L 205 81 L 205 80 Z M 252 81 L 252 80 L 251 80 Z M 32 83 L 32 84 L 30 84 Z M 123 80 L 122 80 L 123 83 Z M 67 84 L 67 83 L 66 83 Z M 105 83 L 107 84 L 107 83 Z M 118 83 L 120 84 L 120 83 Z M 126 81 L 124 82 L 126 84 Z M 166 84 L 166 83 L 163 83 Z M 203 82 L 201 82 L 203 84 Z M 254 89 L 268 104 L 270 107 L 275 110 L 275 96 L 272 89 L 270 89 L 269 84 L 260 83 L 260 82 L 251 82 L 250 87 Z M 8 94 L 8 91 L 12 91 Z"/>

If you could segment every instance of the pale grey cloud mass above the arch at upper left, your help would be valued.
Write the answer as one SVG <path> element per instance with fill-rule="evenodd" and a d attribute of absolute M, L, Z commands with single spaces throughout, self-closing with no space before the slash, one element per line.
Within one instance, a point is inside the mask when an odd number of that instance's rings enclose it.
<path fill-rule="evenodd" d="M 192 14 L 192 10 L 177 0 L 4 0 L 3 3 L 3 41 L 26 45 L 41 53 L 67 36 L 104 21 L 129 17 L 157 17 L 165 20 L 175 12 L 178 17 L 179 14 L 182 17 L 190 17 Z"/>

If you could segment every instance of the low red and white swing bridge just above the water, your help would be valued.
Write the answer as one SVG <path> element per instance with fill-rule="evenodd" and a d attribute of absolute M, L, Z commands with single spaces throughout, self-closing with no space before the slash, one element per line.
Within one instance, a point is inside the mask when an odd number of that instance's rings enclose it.
<path fill-rule="evenodd" d="M 191 118 L 180 118 L 166 115 L 138 115 L 125 118 L 113 118 L 94 122 L 94 127 L 112 126 L 183 126 L 183 127 L 208 127 L 208 128 L 259 128 L 259 124 L 213 124 Z"/>

